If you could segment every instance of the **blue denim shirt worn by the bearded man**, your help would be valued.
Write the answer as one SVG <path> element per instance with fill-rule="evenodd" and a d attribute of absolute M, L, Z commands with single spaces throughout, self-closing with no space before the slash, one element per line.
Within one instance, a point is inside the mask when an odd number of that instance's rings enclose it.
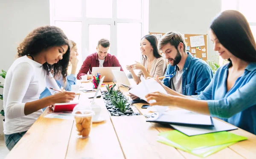
<path fill-rule="evenodd" d="M 187 54 L 182 73 L 182 94 L 199 95 L 212 80 L 212 69 L 205 61 L 193 57 L 189 52 Z M 172 74 L 175 76 L 176 70 L 177 66 L 168 64 L 165 76 Z M 171 79 L 164 78 L 163 84 L 172 89 Z"/>

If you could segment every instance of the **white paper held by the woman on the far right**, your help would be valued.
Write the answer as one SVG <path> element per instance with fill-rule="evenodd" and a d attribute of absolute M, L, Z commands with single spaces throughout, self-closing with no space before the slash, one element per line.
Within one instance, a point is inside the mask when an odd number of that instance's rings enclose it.
<path fill-rule="evenodd" d="M 157 81 L 155 81 L 154 78 L 150 78 L 147 80 L 141 78 L 140 84 L 135 85 L 131 90 L 129 90 L 129 93 L 136 95 L 144 101 L 147 101 L 145 96 L 148 93 L 153 92 L 166 93 L 166 90 L 159 83 L 157 83 Z"/>

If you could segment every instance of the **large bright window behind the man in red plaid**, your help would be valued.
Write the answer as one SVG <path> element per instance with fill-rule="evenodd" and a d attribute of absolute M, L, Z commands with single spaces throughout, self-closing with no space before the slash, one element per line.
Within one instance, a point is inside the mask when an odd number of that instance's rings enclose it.
<path fill-rule="evenodd" d="M 140 38 L 148 34 L 148 0 L 50 0 L 51 25 L 77 43 L 79 71 L 101 38 L 123 69 L 141 61 Z"/>

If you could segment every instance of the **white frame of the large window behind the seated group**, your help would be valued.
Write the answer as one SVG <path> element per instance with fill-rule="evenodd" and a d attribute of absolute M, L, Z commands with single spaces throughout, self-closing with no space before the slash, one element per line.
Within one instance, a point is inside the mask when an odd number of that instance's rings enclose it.
<path fill-rule="evenodd" d="M 110 25 L 111 55 L 118 56 L 117 52 L 117 23 L 141 23 L 141 37 L 148 34 L 149 0 L 141 0 L 141 19 L 117 18 L 117 0 L 113 0 L 113 18 L 86 17 L 86 0 L 81 0 L 81 17 L 55 17 L 55 0 L 50 0 L 50 25 L 55 26 L 55 21 L 81 22 L 81 58 L 84 61 L 89 52 L 89 25 Z M 139 48 L 138 48 L 139 49 Z"/>

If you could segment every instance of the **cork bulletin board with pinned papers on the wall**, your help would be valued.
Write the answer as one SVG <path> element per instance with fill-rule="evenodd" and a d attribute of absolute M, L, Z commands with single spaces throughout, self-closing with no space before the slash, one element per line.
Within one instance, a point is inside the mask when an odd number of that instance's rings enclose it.
<path fill-rule="evenodd" d="M 150 32 L 159 40 L 165 33 Z M 201 34 L 182 34 L 186 42 L 186 50 L 194 57 L 207 61 L 207 35 Z"/>

